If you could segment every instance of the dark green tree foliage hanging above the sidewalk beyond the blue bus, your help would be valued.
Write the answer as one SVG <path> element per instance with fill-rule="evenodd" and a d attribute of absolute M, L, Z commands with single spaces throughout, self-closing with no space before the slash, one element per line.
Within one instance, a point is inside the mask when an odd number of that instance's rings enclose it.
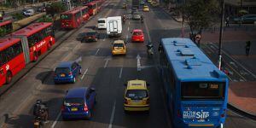
<path fill-rule="evenodd" d="M 184 3 L 184 19 L 190 30 L 201 32 L 219 21 L 220 5 L 217 0 L 188 0 Z"/>

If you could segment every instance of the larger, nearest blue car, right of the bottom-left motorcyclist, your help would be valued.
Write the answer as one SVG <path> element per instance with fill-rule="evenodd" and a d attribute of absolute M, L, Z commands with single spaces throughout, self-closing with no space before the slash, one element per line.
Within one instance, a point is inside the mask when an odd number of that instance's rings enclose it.
<path fill-rule="evenodd" d="M 62 119 L 90 119 L 96 104 L 96 90 L 80 87 L 67 91 L 61 108 Z"/>

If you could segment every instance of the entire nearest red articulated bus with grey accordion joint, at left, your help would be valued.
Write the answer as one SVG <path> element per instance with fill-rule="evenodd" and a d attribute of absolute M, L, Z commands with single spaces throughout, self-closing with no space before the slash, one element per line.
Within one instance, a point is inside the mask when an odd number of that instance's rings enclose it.
<path fill-rule="evenodd" d="M 0 39 L 0 86 L 55 44 L 52 23 L 33 23 Z"/>

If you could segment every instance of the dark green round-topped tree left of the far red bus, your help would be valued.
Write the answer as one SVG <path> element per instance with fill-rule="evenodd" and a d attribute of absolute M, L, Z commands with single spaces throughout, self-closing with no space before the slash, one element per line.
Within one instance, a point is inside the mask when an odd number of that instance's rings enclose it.
<path fill-rule="evenodd" d="M 46 7 L 46 14 L 51 15 L 55 21 L 55 15 L 67 10 L 67 7 L 62 2 L 51 3 Z"/>

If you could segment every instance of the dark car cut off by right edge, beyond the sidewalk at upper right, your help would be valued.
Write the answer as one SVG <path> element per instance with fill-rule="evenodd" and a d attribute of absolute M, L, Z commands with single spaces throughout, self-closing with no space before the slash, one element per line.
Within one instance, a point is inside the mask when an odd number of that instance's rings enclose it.
<path fill-rule="evenodd" d="M 253 24 L 256 21 L 256 15 L 243 15 L 241 17 L 236 17 L 233 19 L 234 23 L 241 24 Z"/>

